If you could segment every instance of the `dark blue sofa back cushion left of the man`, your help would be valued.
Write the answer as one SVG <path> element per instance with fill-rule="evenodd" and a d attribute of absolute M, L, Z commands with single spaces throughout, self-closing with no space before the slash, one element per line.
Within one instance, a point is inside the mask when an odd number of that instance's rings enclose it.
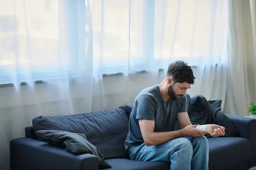
<path fill-rule="evenodd" d="M 38 130 L 84 133 L 105 159 L 128 158 L 124 146 L 128 116 L 122 109 L 67 116 L 38 116 L 32 120 L 32 125 L 35 133 Z"/>

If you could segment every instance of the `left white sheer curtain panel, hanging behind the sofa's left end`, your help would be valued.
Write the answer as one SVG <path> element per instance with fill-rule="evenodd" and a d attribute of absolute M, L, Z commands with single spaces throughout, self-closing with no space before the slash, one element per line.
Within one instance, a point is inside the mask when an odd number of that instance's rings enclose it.
<path fill-rule="evenodd" d="M 85 0 L 0 0 L 0 169 L 34 117 L 92 111 L 92 38 Z"/>

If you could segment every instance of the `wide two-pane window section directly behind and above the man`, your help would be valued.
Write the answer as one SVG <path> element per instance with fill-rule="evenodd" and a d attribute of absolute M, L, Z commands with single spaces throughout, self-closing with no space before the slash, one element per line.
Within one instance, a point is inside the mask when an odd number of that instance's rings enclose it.
<path fill-rule="evenodd" d="M 90 0 L 90 7 L 93 57 L 105 71 L 224 62 L 226 0 Z"/>

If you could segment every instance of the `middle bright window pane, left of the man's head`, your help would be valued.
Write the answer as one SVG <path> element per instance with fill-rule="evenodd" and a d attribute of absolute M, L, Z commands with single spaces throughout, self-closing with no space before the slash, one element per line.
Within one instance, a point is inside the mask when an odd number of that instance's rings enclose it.
<path fill-rule="evenodd" d="M 90 0 L 93 27 L 93 59 L 104 73 L 117 73 L 148 65 L 147 34 L 143 20 L 151 12 L 145 0 Z M 151 4 L 149 4 L 151 5 Z M 149 9 L 150 10 L 150 9 Z M 154 42 L 150 42 L 153 44 Z M 153 56 L 151 55 L 151 59 Z M 133 68 L 134 69 L 134 68 Z"/>

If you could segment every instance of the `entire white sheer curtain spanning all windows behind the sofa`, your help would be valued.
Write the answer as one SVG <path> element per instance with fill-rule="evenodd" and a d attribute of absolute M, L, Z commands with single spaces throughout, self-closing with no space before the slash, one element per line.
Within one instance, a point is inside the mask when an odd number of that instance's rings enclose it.
<path fill-rule="evenodd" d="M 131 104 L 174 60 L 224 105 L 226 32 L 226 0 L 0 0 L 1 169 L 35 116 Z"/>

